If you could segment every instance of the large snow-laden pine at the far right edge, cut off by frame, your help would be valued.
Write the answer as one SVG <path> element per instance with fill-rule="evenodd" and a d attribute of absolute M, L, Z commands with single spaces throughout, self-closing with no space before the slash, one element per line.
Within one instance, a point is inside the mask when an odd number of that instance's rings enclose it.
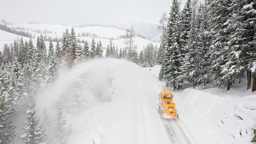
<path fill-rule="evenodd" d="M 247 71 L 247 89 L 251 84 L 251 68 L 252 62 L 256 61 L 255 57 L 255 13 L 256 3 L 253 0 L 234 0 L 229 8 L 232 11 L 231 21 L 233 27 L 235 27 L 235 34 L 230 36 L 230 45 L 232 51 L 229 53 L 229 71 L 236 77 L 244 76 L 244 71 Z M 255 74 L 255 72 L 253 72 Z M 254 84 L 255 85 L 255 84 Z"/>

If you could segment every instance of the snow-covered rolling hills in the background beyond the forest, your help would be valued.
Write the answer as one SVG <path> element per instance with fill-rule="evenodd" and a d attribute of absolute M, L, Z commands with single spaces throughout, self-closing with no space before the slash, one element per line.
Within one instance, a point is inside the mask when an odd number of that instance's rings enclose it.
<path fill-rule="evenodd" d="M 31 33 L 32 36 L 35 36 L 35 38 L 37 36 L 40 36 L 41 33 L 37 33 L 37 30 L 42 30 L 42 31 L 48 31 L 51 33 L 47 33 L 47 34 L 43 34 L 48 36 L 51 36 L 52 38 L 54 37 L 58 37 L 61 38 L 63 32 L 68 28 L 68 30 L 70 31 L 70 29 L 72 28 L 71 26 L 64 26 L 64 25 L 50 25 L 50 24 L 19 24 L 19 25 L 7 25 L 8 27 L 12 27 L 15 28 L 16 30 L 22 30 L 28 33 Z M 26 30 L 24 30 L 26 29 Z M 118 29 L 118 28 L 108 28 L 108 27 L 101 27 L 101 26 L 87 26 L 87 27 L 74 27 L 76 34 L 82 34 L 82 33 L 92 33 L 92 34 L 96 34 L 98 37 L 95 37 L 94 39 L 96 40 L 96 42 L 101 41 L 102 46 L 103 47 L 107 47 L 107 45 L 109 44 L 109 41 L 111 38 L 113 39 L 113 44 L 115 44 L 115 46 L 119 48 L 123 48 L 124 47 L 124 39 L 123 38 L 118 38 L 116 39 L 118 36 L 124 35 L 125 31 L 122 29 Z M 16 35 L 16 34 L 12 34 L 3 30 L 0 30 L 0 50 L 2 51 L 3 49 L 3 45 L 5 43 L 7 44 L 11 44 L 13 43 L 13 41 L 17 38 L 20 38 L 21 36 Z M 28 37 L 24 37 L 22 36 L 22 38 L 25 40 L 29 40 Z M 33 42 L 34 44 L 36 44 L 36 39 L 33 38 Z M 92 37 L 88 37 L 88 36 L 80 36 L 77 37 L 79 38 L 81 41 L 82 40 L 86 40 L 89 42 L 89 44 L 92 41 Z M 45 42 L 46 43 L 46 47 L 48 48 L 48 44 L 49 42 Z M 134 44 L 137 45 L 137 51 L 140 52 L 140 50 L 143 49 L 144 45 L 147 45 L 148 43 L 152 43 L 153 45 L 157 45 L 159 47 L 159 43 L 155 43 L 152 42 L 148 39 L 144 39 L 144 38 L 140 38 L 140 37 L 134 37 Z M 54 45 L 56 44 L 56 42 L 53 43 Z"/>

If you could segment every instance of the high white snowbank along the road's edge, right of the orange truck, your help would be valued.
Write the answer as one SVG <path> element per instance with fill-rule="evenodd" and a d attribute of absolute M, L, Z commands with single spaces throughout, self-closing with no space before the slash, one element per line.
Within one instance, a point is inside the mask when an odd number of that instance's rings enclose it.
<path fill-rule="evenodd" d="M 225 97 L 191 88 L 184 92 L 179 116 L 198 143 L 251 142 L 256 129 L 256 95 Z"/>

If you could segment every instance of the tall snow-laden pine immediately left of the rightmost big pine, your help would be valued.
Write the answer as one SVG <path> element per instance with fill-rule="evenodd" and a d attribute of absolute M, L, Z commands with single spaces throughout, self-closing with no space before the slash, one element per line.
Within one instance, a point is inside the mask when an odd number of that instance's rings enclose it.
<path fill-rule="evenodd" d="M 213 83 L 220 87 L 228 87 L 234 82 L 233 76 L 226 75 L 228 65 L 228 53 L 230 53 L 229 36 L 233 33 L 233 21 L 231 21 L 232 12 L 229 10 L 232 1 L 213 0 L 210 3 L 210 14 L 212 15 L 212 33 L 214 33 L 214 41 L 211 45 L 212 67 L 211 72 L 214 77 Z M 226 75 L 225 77 L 223 77 Z"/>

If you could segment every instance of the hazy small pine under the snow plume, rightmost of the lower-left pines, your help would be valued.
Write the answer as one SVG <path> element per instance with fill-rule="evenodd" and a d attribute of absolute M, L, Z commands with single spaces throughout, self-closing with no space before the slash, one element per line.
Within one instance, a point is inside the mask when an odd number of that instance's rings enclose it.
<path fill-rule="evenodd" d="M 57 116 L 55 118 L 55 126 L 54 126 L 54 131 L 55 131 L 55 143 L 56 144 L 65 144 L 67 143 L 67 129 L 66 129 L 66 120 L 65 116 L 63 114 L 62 106 L 61 106 L 61 101 L 57 103 Z"/>

